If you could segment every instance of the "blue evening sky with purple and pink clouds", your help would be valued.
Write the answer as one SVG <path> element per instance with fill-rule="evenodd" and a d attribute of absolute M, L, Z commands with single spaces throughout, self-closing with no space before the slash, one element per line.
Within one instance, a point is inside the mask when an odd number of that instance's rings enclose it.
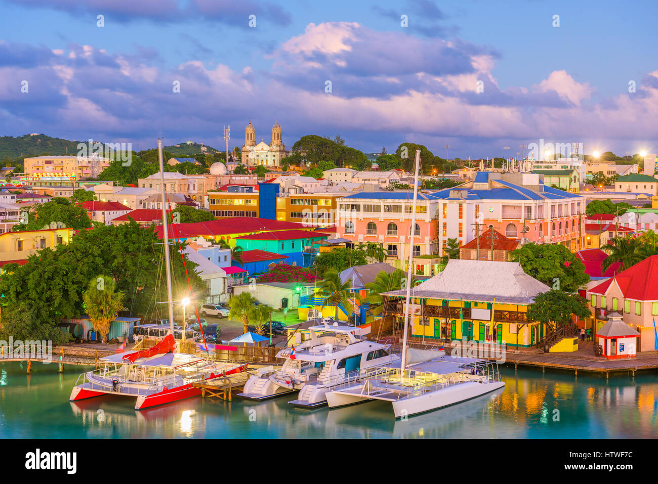
<path fill-rule="evenodd" d="M 658 2 L 0 0 L 0 135 L 658 151 Z M 99 17 L 101 16 L 101 17 Z M 180 87 L 180 89 L 178 89 Z M 503 147 L 509 146 L 509 151 Z"/>

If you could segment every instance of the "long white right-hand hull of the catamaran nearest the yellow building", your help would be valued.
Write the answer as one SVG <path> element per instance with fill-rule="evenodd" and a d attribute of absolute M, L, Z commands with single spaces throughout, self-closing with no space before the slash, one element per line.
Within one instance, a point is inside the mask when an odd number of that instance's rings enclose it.
<path fill-rule="evenodd" d="M 504 386 L 504 381 L 492 381 L 490 383 L 468 381 L 439 391 L 428 392 L 418 397 L 395 400 L 393 402 L 393 412 L 395 418 L 422 414 L 423 412 L 438 410 L 438 408 L 486 395 Z"/>

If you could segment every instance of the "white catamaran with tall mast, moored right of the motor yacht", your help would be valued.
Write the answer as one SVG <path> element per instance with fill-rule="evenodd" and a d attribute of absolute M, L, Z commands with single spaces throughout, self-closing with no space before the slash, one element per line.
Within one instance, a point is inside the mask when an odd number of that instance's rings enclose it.
<path fill-rule="evenodd" d="M 416 151 L 411 227 L 416 224 L 418 198 L 418 164 Z M 413 247 L 414 231 L 410 246 Z M 401 358 L 361 375 L 355 381 L 337 383 L 326 391 L 330 408 L 367 400 L 392 402 L 396 418 L 411 416 L 474 399 L 505 386 L 497 372 L 497 364 L 473 358 L 436 356 L 432 352 L 407 348 L 413 251 L 409 251 L 407 273 L 405 328 Z"/>

